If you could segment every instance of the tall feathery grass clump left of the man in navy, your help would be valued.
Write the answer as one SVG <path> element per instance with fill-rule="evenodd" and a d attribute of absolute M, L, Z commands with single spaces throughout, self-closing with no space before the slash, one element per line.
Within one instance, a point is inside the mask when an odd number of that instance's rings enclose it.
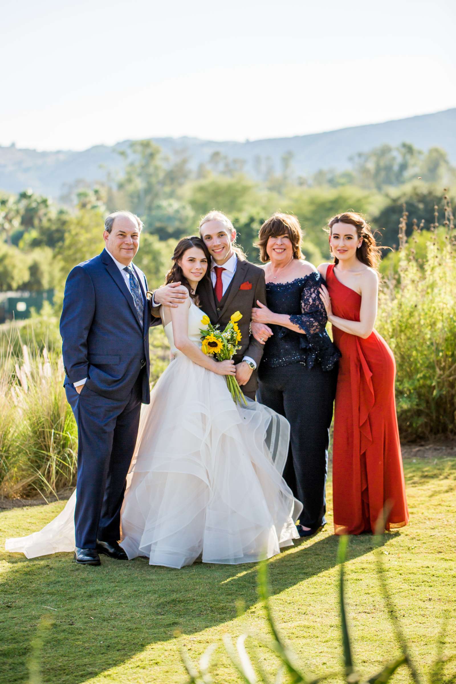
<path fill-rule="evenodd" d="M 0 495 L 44 497 L 75 484 L 77 428 L 60 354 L 12 342 L 0 359 Z"/>

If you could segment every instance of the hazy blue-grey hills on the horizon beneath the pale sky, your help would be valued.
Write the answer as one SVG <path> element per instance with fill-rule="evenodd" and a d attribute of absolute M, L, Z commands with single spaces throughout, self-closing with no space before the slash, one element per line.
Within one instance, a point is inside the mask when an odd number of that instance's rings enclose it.
<path fill-rule="evenodd" d="M 193 137 L 157 137 L 152 140 L 167 154 L 185 150 L 192 168 L 206 162 L 215 151 L 230 158 L 243 159 L 245 171 L 252 176 L 256 176 L 258 166 L 268 157 L 269 163 L 279 170 L 280 159 L 289 150 L 294 155 L 295 172 L 307 175 L 321 168 L 347 168 L 350 155 L 384 143 L 394 146 L 410 142 L 421 150 L 442 147 L 450 161 L 456 163 L 456 108 L 338 131 L 267 140 L 215 142 Z M 79 152 L 38 152 L 0 146 L 0 189 L 19 192 L 31 187 L 35 192 L 58 198 L 64 187 L 77 179 L 95 182 L 104 180 L 108 172 L 111 176 L 120 174 L 124 160 L 118 151 L 128 148 L 129 142 L 124 140 L 111 147 L 98 145 Z"/>

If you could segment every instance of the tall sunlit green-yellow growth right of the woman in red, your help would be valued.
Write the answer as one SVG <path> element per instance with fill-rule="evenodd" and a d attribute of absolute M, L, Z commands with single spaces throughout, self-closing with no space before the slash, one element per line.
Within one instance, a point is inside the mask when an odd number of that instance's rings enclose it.
<path fill-rule="evenodd" d="M 399 268 L 379 296 L 377 328 L 397 363 L 396 401 L 403 440 L 456 434 L 456 233 L 448 198 L 443 226 L 435 222 L 425 244 L 407 212 L 399 226 Z M 424 232 L 424 231 L 423 231 Z M 422 254 L 420 250 L 420 254 Z"/>

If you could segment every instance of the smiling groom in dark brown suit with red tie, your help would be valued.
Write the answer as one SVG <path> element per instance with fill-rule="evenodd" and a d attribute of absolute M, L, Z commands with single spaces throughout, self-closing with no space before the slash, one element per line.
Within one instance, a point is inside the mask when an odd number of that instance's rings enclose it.
<path fill-rule="evenodd" d="M 256 370 L 263 356 L 263 345 L 250 334 L 252 308 L 257 300 L 266 304 L 265 272 L 262 268 L 246 261 L 233 246 L 236 239 L 229 218 L 221 211 L 211 211 L 200 222 L 200 236 L 211 254 L 211 280 L 203 278 L 198 285 L 198 296 L 202 311 L 209 316 L 213 325 L 224 330 L 234 311 L 242 318 L 239 330 L 242 335 L 241 348 L 233 356 L 236 365 L 236 379 L 246 397 L 255 399 L 258 380 Z M 212 285 L 211 285 L 212 282 Z M 152 295 L 152 315 L 159 317 L 158 306 L 178 306 L 189 293 L 178 283 L 164 285 Z"/>

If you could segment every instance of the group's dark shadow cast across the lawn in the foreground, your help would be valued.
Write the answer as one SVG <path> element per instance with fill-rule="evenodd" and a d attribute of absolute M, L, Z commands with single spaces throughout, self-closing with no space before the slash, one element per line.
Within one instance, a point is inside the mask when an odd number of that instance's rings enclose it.
<path fill-rule="evenodd" d="M 271 595 L 334 568 L 337 545 L 335 536 L 317 536 L 271 560 Z M 372 549 L 372 536 L 360 536 L 350 558 Z M 142 558 L 103 557 L 101 568 L 91 568 L 77 566 L 64 553 L 35 560 L 8 554 L 8 562 L 1 586 L 0 667 L 10 683 L 27 676 L 29 644 L 43 615 L 53 619 L 42 653 L 43 679 L 75 684 L 119 666 L 149 644 L 173 639 L 176 629 L 191 635 L 232 620 L 239 599 L 247 608 L 258 601 L 256 564 L 170 570 Z"/>

